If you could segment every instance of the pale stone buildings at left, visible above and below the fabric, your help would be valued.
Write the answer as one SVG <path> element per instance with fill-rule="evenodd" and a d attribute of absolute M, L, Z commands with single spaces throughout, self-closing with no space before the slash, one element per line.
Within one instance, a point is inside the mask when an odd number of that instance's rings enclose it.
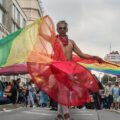
<path fill-rule="evenodd" d="M 0 0 L 0 39 L 42 17 L 40 0 Z M 31 79 L 29 74 L 0 76 L 2 81 L 21 78 L 23 83 Z"/>

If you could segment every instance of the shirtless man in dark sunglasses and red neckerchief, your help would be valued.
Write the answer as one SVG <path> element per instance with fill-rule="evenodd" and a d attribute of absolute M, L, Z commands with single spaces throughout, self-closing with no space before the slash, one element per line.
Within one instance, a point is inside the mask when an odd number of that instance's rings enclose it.
<path fill-rule="evenodd" d="M 75 52 L 81 58 L 92 58 L 92 56 L 83 53 L 78 48 L 78 46 L 75 44 L 75 42 L 68 38 L 68 36 L 66 35 L 66 33 L 68 32 L 68 24 L 66 23 L 66 21 L 58 22 L 57 32 L 58 32 L 58 35 L 56 36 L 57 40 L 59 41 L 59 43 L 63 49 L 64 55 L 65 55 L 67 61 L 72 61 L 72 52 Z M 97 56 L 94 56 L 94 57 L 98 59 L 98 62 L 101 61 L 101 58 L 99 58 Z M 63 117 L 64 117 L 64 120 L 70 120 L 70 114 L 69 114 L 68 107 L 58 104 L 57 118 L 58 118 L 58 120 L 62 120 Z"/>

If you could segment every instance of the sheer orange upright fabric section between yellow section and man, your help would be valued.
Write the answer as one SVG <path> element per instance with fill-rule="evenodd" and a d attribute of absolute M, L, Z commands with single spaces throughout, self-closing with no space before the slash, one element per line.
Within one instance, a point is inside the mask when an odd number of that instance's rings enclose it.
<path fill-rule="evenodd" d="M 34 50 L 27 61 L 33 63 L 51 63 L 54 55 L 54 43 L 56 40 L 54 24 L 49 16 L 44 17 L 40 25 Z"/>

